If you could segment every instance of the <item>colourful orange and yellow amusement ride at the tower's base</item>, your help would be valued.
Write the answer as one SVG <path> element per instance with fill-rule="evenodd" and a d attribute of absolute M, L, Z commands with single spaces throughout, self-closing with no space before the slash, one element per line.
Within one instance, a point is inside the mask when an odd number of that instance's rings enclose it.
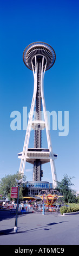
<path fill-rule="evenodd" d="M 60 192 L 57 190 L 51 190 L 50 193 L 46 190 L 42 190 L 39 192 L 39 195 L 36 195 L 35 197 L 24 197 L 27 200 L 30 200 L 32 204 L 32 208 L 34 211 L 38 211 L 39 208 L 41 208 L 44 203 L 45 211 L 55 211 L 54 209 L 54 203 L 57 201 L 58 198 L 61 198 L 63 196 L 60 195 Z"/>

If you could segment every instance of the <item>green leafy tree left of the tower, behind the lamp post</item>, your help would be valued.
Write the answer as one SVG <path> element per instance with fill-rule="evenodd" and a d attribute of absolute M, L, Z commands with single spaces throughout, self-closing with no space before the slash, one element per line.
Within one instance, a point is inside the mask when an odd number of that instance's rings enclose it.
<path fill-rule="evenodd" d="M 0 194 L 2 194 L 2 197 L 7 196 L 9 200 L 11 200 L 11 187 L 16 187 L 16 180 L 15 179 L 21 179 L 21 174 L 18 172 L 14 175 L 5 175 L 4 178 L 0 181 Z M 25 176 L 23 177 L 23 181 L 25 181 Z M 21 186 L 19 189 L 19 200 L 23 199 L 23 187 Z"/>

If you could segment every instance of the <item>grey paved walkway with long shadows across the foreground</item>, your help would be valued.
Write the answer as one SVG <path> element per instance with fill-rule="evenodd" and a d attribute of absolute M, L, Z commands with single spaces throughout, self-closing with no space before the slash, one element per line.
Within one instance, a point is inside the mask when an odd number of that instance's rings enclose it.
<path fill-rule="evenodd" d="M 17 233 L 15 216 L 10 211 L 0 211 L 0 216 L 0 245 L 79 245 L 79 214 L 18 215 Z"/>

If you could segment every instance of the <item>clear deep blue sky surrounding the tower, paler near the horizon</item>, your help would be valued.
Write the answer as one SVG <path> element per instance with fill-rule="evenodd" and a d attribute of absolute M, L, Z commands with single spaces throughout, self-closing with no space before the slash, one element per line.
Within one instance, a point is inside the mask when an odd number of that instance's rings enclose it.
<path fill-rule="evenodd" d="M 44 95 L 48 111 L 69 111 L 69 135 L 51 132 L 58 181 L 64 174 L 75 176 L 79 190 L 79 3 L 70 0 L 2 1 L 0 7 L 0 178 L 19 170 L 17 153 L 22 151 L 25 131 L 10 129 L 12 111 L 22 115 L 23 106 L 32 100 L 34 77 L 23 63 L 24 48 L 43 41 L 56 52 L 54 66 L 45 72 Z M 32 180 L 32 165 L 25 175 Z M 50 164 L 43 165 L 43 180 L 52 182 Z"/>

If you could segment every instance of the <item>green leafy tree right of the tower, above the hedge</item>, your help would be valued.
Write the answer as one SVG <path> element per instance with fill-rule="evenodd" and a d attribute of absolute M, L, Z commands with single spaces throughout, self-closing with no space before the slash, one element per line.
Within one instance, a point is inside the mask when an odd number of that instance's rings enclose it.
<path fill-rule="evenodd" d="M 74 177 L 72 177 L 74 178 Z M 57 190 L 61 193 L 62 196 L 64 196 L 65 203 L 76 203 L 76 195 L 75 191 L 71 189 L 71 186 L 74 185 L 71 182 L 71 177 L 68 178 L 68 175 L 65 174 L 64 178 L 61 182 L 57 182 Z"/>

